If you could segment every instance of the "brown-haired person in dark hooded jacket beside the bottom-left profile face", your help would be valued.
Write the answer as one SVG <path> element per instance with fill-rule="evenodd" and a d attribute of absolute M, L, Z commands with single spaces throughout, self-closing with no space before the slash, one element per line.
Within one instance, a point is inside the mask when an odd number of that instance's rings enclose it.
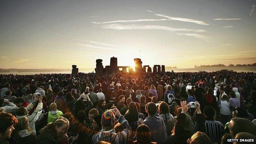
<path fill-rule="evenodd" d="M 37 136 L 28 126 L 27 117 L 18 119 L 18 123 L 14 126 L 15 130 L 11 134 L 18 144 L 36 144 Z"/>

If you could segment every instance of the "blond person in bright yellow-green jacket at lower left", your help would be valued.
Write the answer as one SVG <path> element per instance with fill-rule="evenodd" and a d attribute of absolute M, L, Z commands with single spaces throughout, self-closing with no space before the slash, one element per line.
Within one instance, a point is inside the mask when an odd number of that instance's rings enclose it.
<path fill-rule="evenodd" d="M 63 113 L 62 111 L 57 109 L 57 104 L 56 103 L 51 103 L 49 107 L 49 112 L 48 112 L 48 119 L 47 123 L 52 123 L 55 121 L 59 116 L 62 116 Z"/>

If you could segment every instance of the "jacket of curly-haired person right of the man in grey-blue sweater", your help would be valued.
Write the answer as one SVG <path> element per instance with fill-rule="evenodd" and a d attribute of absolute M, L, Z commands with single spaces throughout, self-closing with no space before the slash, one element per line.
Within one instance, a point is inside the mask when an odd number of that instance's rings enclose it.
<path fill-rule="evenodd" d="M 174 127 L 174 124 L 175 124 L 174 123 L 174 117 L 170 113 L 160 114 L 159 116 L 162 117 L 162 119 L 165 122 L 166 134 L 167 134 L 167 137 L 168 137 L 169 135 L 171 135 L 171 130 Z"/>

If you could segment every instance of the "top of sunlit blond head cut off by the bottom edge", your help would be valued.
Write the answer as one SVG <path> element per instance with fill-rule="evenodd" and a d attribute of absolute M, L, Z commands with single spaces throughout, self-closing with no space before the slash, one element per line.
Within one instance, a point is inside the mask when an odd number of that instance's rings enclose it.
<path fill-rule="evenodd" d="M 212 142 L 205 133 L 197 132 L 187 139 L 187 144 L 212 144 Z"/>

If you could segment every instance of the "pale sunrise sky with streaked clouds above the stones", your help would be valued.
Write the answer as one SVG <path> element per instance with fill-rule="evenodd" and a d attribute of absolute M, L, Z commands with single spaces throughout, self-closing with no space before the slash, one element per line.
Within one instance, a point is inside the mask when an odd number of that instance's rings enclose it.
<path fill-rule="evenodd" d="M 0 69 L 256 62 L 256 0 L 1 0 Z"/>

